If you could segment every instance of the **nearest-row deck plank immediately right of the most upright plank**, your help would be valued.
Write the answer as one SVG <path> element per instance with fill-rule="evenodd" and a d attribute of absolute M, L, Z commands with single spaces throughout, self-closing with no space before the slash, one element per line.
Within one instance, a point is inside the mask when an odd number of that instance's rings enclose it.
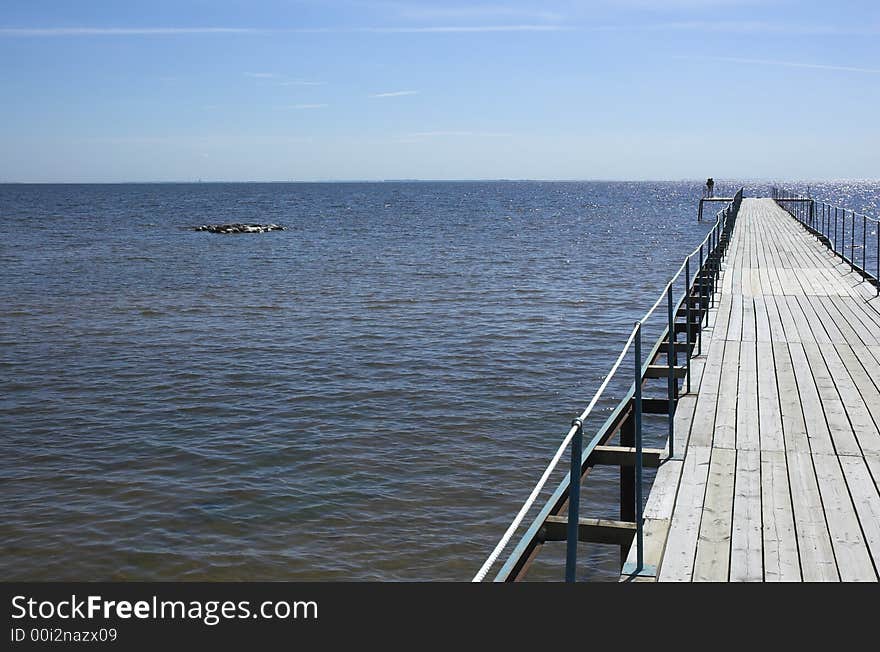
<path fill-rule="evenodd" d="M 761 451 L 761 514 L 765 581 L 800 581 L 797 534 L 784 452 Z"/>

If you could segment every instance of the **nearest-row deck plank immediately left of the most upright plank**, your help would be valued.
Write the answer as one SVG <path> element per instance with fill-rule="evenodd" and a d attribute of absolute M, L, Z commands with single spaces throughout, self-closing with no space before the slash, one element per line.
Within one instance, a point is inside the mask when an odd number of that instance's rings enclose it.
<path fill-rule="evenodd" d="M 730 570 L 736 450 L 713 448 L 694 562 L 695 582 L 725 582 Z"/>

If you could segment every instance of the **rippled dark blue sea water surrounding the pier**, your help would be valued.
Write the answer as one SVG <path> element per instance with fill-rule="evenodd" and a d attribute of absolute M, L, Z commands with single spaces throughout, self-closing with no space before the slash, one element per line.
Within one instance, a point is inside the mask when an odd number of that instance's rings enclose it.
<path fill-rule="evenodd" d="M 469 579 L 705 235 L 700 193 L 0 186 L 2 577 Z M 287 230 L 187 228 L 233 221 Z M 613 516 L 596 479 L 584 515 Z"/>

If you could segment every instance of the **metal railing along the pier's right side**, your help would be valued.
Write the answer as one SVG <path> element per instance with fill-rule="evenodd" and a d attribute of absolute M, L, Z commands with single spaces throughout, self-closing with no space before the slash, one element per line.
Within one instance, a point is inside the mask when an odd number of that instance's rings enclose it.
<path fill-rule="evenodd" d="M 880 296 L 880 220 L 785 188 L 774 187 L 773 199 L 854 272 L 873 283 Z"/>

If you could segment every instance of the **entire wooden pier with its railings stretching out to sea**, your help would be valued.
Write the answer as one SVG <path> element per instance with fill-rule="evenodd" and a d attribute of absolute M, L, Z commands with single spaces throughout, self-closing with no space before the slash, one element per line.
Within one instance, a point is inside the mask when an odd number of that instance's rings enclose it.
<path fill-rule="evenodd" d="M 474 581 L 524 523 L 496 582 L 524 579 L 552 541 L 566 542 L 566 581 L 579 543 L 619 546 L 621 581 L 877 581 L 878 295 L 876 218 L 740 190 L 636 322 Z M 664 331 L 643 355 L 642 327 L 658 316 Z M 629 393 L 585 438 L 620 374 Z M 643 446 L 644 415 L 665 419 L 665 448 Z M 569 472 L 526 520 L 565 451 Z M 584 514 L 581 485 L 600 465 L 620 469 L 619 520 Z M 646 500 L 645 468 L 657 469 Z"/>

